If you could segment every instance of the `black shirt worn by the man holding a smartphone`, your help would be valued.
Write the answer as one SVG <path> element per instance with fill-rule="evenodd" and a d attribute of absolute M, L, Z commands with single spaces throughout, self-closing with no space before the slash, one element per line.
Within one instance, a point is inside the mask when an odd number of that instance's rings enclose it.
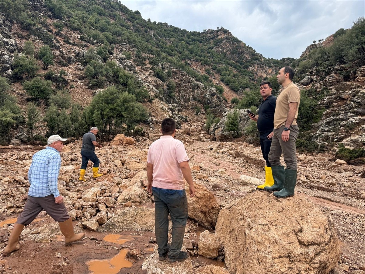
<path fill-rule="evenodd" d="M 268 96 L 258 108 L 257 128 L 260 133 L 272 132 L 274 130 L 274 113 L 276 97 Z"/>

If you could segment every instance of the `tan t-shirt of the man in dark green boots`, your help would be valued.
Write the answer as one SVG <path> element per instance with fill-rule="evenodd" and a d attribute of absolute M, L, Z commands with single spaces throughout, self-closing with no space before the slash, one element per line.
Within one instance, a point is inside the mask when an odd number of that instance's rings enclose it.
<path fill-rule="evenodd" d="M 296 119 L 298 118 L 300 91 L 299 88 L 292 82 L 285 88 L 282 88 L 279 91 L 279 95 L 277 96 L 274 114 L 274 129 L 278 129 L 285 125 L 289 113 L 289 103 L 293 102 L 297 102 L 298 105 L 292 125 L 297 125 Z"/>

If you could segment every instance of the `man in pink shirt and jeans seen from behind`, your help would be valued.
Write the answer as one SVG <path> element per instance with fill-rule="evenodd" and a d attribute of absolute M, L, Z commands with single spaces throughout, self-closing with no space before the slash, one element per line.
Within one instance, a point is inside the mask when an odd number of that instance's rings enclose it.
<path fill-rule="evenodd" d="M 183 261 L 189 253 L 181 251 L 188 218 L 188 200 L 185 180 L 189 184 L 190 197 L 195 187 L 184 144 L 174 139 L 176 122 L 165 118 L 161 122 L 162 136 L 151 144 L 147 155 L 147 190 L 155 199 L 155 235 L 158 259 L 169 262 Z M 172 221 L 172 241 L 168 248 L 169 214 Z"/>

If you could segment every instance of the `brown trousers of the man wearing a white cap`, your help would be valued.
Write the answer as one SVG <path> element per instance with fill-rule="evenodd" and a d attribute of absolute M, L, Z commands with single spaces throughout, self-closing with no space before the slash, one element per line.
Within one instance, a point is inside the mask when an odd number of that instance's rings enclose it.
<path fill-rule="evenodd" d="M 32 197 L 28 195 L 24 210 L 20 213 L 16 223 L 20 225 L 30 224 L 42 209 L 57 222 L 64 222 L 70 218 L 64 203 L 55 203 L 52 194 L 46 197 Z"/>

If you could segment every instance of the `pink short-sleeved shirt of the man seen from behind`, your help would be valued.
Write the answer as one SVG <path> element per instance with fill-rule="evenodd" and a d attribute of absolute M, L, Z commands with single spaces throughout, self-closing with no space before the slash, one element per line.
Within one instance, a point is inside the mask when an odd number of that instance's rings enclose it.
<path fill-rule="evenodd" d="M 185 189 L 179 163 L 189 161 L 184 144 L 170 135 L 154 141 L 147 154 L 147 163 L 153 165 L 153 187 Z"/>

